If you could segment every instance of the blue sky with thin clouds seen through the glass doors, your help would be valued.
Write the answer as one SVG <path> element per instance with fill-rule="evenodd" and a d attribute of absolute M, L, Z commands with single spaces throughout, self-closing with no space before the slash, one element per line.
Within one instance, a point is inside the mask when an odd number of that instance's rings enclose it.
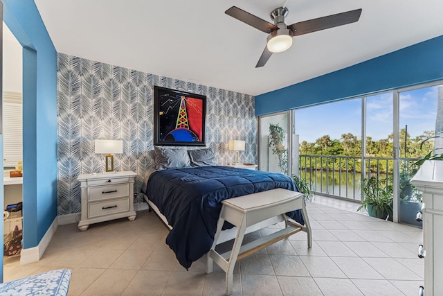
<path fill-rule="evenodd" d="M 426 87 L 400 93 L 399 126 L 408 125 L 408 133 L 415 138 L 426 130 L 435 130 L 438 87 Z M 366 134 L 373 141 L 386 139 L 393 129 L 392 92 L 368 96 Z M 341 134 L 352 133 L 361 139 L 361 98 L 328 103 L 296 110 L 296 134 L 300 143 L 315 142 L 329 134 L 341 139 Z"/>

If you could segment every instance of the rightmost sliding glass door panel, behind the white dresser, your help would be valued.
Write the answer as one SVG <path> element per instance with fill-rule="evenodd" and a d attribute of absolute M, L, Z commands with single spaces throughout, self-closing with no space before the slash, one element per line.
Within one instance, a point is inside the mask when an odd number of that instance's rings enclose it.
<path fill-rule="evenodd" d="M 409 180 L 417 172 L 414 163 L 434 148 L 442 148 L 442 139 L 433 137 L 443 132 L 443 85 L 415 89 L 401 89 L 399 97 L 399 155 L 398 155 L 398 220 L 401 223 L 421 226 L 415 220 L 421 208 L 422 193 Z"/>

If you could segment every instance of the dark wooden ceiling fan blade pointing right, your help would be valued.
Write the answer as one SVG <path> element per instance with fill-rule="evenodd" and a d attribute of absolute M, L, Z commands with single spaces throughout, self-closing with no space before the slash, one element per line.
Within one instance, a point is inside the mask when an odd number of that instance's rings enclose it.
<path fill-rule="evenodd" d="M 327 15 L 326 17 L 318 17 L 318 19 L 309 19 L 307 21 L 300 21 L 296 24 L 291 24 L 288 28 L 293 31 L 294 36 L 312 33 L 336 26 L 343 26 L 351 24 L 359 20 L 361 15 L 361 8 L 350 10 L 347 12 L 337 13 L 336 15 Z"/>

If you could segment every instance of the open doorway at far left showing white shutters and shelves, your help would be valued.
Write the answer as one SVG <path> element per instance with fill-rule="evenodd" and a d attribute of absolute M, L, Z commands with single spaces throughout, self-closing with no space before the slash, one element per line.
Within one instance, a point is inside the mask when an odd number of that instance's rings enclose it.
<path fill-rule="evenodd" d="M 3 23 L 3 263 L 19 261 L 23 238 L 22 47 Z"/>

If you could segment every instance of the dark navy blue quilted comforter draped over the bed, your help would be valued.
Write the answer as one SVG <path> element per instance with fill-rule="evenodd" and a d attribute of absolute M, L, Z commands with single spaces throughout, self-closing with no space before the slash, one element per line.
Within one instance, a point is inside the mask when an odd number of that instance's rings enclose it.
<path fill-rule="evenodd" d="M 298 191 L 291 177 L 279 173 L 201 166 L 156 171 L 145 194 L 173 227 L 166 243 L 188 269 L 213 245 L 221 200 L 276 188 Z M 300 211 L 288 214 L 305 224 Z"/>

